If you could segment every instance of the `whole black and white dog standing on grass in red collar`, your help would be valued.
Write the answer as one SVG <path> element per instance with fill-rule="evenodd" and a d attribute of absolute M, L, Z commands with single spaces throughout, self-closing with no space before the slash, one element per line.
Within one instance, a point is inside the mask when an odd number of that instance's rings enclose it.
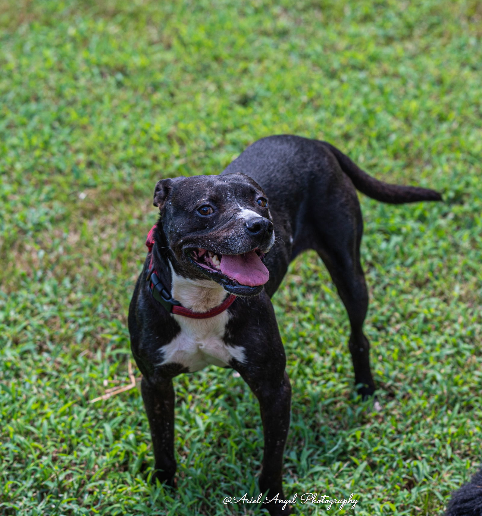
<path fill-rule="evenodd" d="M 256 141 L 220 175 L 157 183 L 160 217 L 148 236 L 128 317 L 143 375 L 154 478 L 174 485 L 172 378 L 215 364 L 238 371 L 258 398 L 260 490 L 282 497 L 291 387 L 270 297 L 306 249 L 322 257 L 348 312 L 359 392 L 374 393 L 362 331 L 368 295 L 356 188 L 388 203 L 441 199 L 433 190 L 377 181 L 329 143 L 287 135 Z M 290 511 L 275 503 L 268 510 Z"/>

